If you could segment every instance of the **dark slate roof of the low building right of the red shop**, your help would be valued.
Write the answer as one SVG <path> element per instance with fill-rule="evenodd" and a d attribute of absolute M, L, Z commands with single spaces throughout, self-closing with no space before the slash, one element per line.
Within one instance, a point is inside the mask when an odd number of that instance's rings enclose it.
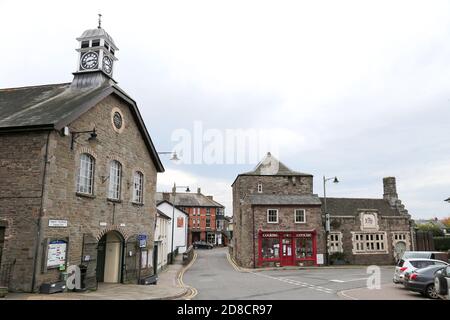
<path fill-rule="evenodd" d="M 320 198 L 322 204 L 323 198 Z M 367 198 L 328 198 L 327 211 L 334 216 L 350 216 L 357 215 L 358 209 L 375 209 L 379 215 L 383 216 L 400 216 L 400 212 L 392 208 L 387 200 L 384 199 L 367 199 Z M 325 208 L 322 206 L 322 211 Z"/>

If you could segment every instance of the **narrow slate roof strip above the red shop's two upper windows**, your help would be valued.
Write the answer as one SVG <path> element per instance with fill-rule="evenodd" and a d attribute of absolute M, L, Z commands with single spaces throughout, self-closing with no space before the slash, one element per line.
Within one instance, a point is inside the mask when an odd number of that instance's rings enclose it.
<path fill-rule="evenodd" d="M 250 194 L 252 205 L 321 205 L 319 197 L 313 195 Z"/>

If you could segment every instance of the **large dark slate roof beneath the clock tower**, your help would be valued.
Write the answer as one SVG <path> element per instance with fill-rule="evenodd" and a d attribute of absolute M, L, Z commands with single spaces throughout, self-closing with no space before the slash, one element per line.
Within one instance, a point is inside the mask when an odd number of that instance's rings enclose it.
<path fill-rule="evenodd" d="M 114 81 L 87 87 L 60 83 L 0 89 L 0 133 L 61 130 L 111 94 L 130 106 L 157 171 L 164 172 L 136 102 Z"/>

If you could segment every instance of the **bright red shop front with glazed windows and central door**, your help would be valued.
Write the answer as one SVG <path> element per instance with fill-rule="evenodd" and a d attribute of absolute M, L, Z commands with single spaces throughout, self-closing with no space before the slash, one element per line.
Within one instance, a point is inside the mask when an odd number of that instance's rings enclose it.
<path fill-rule="evenodd" d="M 259 231 L 258 266 L 317 265 L 315 231 Z"/>

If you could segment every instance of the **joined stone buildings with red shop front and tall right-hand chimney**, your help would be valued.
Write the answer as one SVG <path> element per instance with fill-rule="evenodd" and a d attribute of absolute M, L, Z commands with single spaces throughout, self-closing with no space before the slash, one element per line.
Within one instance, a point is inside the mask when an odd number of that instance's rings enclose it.
<path fill-rule="evenodd" d="M 244 267 L 390 264 L 411 248 L 411 217 L 398 199 L 395 178 L 383 180 L 380 199 L 326 198 L 313 193 L 313 176 L 296 172 L 270 153 L 233 190 L 233 257 Z M 328 250 L 327 250 L 328 246 Z"/>

